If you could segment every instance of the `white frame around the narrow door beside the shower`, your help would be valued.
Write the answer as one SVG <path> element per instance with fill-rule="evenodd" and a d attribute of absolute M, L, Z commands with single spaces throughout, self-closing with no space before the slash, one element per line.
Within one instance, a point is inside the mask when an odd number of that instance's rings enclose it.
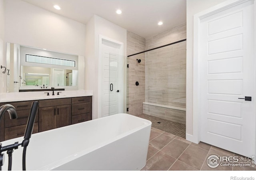
<path fill-rule="evenodd" d="M 121 57 L 124 56 L 124 43 L 123 42 L 120 42 L 120 41 L 117 41 L 117 40 L 114 40 L 114 39 L 111 39 L 111 38 L 108 38 L 106 36 L 102 36 L 101 34 L 99 35 L 99 66 L 98 66 L 98 118 L 101 118 L 102 117 L 102 40 L 106 40 L 112 44 L 118 44 L 120 46 L 119 48 L 119 54 Z M 120 67 L 121 67 L 121 74 L 122 74 L 122 77 L 120 78 L 120 87 L 124 88 L 124 70 L 122 69 L 123 67 L 123 64 L 124 62 L 121 61 L 121 64 L 120 64 Z M 122 89 L 120 91 L 120 100 L 121 100 L 121 110 L 123 111 L 124 109 L 124 100 L 123 100 L 123 97 L 124 97 L 124 90 Z"/>

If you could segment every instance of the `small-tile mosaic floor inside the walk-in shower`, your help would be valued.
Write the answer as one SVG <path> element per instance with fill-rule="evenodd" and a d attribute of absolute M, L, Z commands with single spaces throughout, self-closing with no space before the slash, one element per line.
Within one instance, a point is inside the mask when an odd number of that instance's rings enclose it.
<path fill-rule="evenodd" d="M 175 134 L 176 136 L 186 138 L 186 125 L 185 124 L 180 124 L 178 122 L 172 122 L 169 120 L 150 116 L 147 114 L 140 114 L 140 115 L 138 115 L 138 117 L 150 120 L 152 122 L 152 127 L 154 127 L 154 128 L 158 128 L 165 132 Z M 158 123 L 158 122 L 161 122 L 161 123 Z"/>

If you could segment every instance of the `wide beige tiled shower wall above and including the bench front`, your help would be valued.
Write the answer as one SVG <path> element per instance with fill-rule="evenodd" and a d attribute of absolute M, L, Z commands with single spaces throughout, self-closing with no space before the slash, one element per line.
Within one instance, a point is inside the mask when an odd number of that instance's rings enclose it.
<path fill-rule="evenodd" d="M 186 39 L 182 24 L 146 39 L 152 49 Z M 145 102 L 186 108 L 186 41 L 146 52 Z M 144 113 L 185 124 L 186 111 L 144 105 Z"/>

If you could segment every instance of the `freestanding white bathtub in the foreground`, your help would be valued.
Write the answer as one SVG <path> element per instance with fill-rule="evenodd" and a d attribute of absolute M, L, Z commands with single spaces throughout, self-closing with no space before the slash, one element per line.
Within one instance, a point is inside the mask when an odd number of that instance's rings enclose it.
<path fill-rule="evenodd" d="M 146 164 L 151 122 L 116 114 L 32 134 L 27 170 L 141 170 Z M 2 142 L 21 143 L 23 137 Z M 12 170 L 22 170 L 22 150 L 12 155 Z M 7 170 L 5 154 L 2 170 Z"/>

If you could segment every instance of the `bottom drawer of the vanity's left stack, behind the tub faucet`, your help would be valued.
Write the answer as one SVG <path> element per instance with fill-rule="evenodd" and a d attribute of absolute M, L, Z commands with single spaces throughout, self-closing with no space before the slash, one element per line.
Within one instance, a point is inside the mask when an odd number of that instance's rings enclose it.
<path fill-rule="evenodd" d="M 14 126 L 11 128 L 5 128 L 4 130 L 5 130 L 4 140 L 18 138 L 18 137 L 24 136 L 25 130 L 26 130 L 26 124 L 21 126 Z M 36 132 L 38 132 L 38 122 L 34 124 L 34 128 L 33 128 L 33 134 Z"/>

